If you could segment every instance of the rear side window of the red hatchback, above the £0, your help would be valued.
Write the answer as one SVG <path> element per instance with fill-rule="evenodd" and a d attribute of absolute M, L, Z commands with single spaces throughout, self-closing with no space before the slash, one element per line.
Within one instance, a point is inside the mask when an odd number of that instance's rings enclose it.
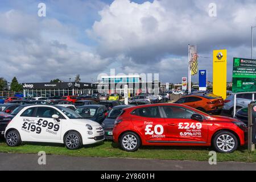
<path fill-rule="evenodd" d="M 135 115 L 145 118 L 161 118 L 159 107 L 143 107 L 133 112 Z"/>

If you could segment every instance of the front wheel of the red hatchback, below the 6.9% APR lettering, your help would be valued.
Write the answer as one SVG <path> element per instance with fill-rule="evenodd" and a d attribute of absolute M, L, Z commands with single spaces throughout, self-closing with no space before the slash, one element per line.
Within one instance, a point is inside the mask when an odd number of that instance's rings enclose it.
<path fill-rule="evenodd" d="M 221 153 L 232 153 L 237 150 L 237 137 L 229 131 L 220 131 L 213 138 L 213 147 Z"/>

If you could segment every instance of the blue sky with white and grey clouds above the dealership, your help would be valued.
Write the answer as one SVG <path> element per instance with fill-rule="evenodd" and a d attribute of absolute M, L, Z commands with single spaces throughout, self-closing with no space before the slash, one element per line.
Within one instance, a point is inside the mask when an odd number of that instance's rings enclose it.
<path fill-rule="evenodd" d="M 40 2 L 46 4 L 46 17 L 38 17 Z M 67 81 L 80 74 L 82 81 L 96 81 L 115 68 L 116 73 L 159 73 L 160 81 L 176 83 L 187 76 L 187 45 L 196 44 L 199 69 L 208 70 L 208 80 L 212 50 L 228 49 L 231 81 L 233 57 L 250 57 L 256 2 L 216 0 L 213 18 L 211 2 L 2 0 L 0 77 Z"/>

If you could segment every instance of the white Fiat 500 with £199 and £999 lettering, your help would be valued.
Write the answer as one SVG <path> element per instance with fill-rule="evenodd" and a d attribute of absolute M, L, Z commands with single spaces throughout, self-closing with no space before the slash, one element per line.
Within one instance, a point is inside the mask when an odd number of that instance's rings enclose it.
<path fill-rule="evenodd" d="M 75 150 L 104 140 L 104 130 L 97 122 L 83 119 L 66 107 L 33 105 L 24 107 L 11 120 L 5 138 L 11 147 L 22 142 L 46 142 L 64 143 Z"/>

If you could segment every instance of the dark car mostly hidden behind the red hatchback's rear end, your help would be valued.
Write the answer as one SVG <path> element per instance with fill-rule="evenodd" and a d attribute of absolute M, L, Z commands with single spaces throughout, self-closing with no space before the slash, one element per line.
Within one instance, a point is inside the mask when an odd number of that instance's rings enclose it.
<path fill-rule="evenodd" d="M 113 107 L 112 110 L 109 111 L 108 115 L 102 122 L 102 127 L 105 131 L 105 138 L 106 139 L 113 139 L 113 128 L 115 119 L 118 117 L 119 114 L 121 114 L 122 110 L 127 107 L 132 107 L 133 105 L 119 105 Z"/>

